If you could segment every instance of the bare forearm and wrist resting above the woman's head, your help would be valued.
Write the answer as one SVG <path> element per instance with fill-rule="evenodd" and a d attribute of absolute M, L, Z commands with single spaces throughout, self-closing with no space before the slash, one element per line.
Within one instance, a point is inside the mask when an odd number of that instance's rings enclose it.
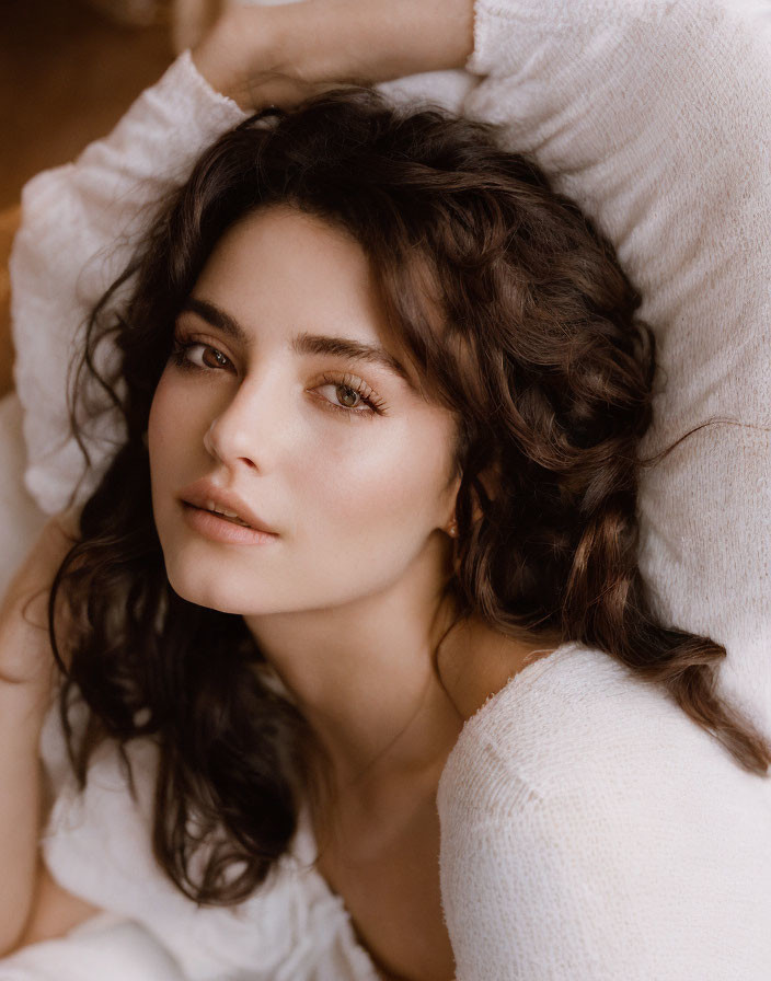
<path fill-rule="evenodd" d="M 306 0 L 229 7 L 193 49 L 209 84 L 246 112 L 341 85 L 463 68 L 473 0 Z"/>

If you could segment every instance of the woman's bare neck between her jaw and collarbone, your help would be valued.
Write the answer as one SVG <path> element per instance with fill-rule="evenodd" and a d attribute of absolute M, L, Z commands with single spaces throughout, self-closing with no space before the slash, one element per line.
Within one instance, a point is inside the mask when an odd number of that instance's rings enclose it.
<path fill-rule="evenodd" d="M 344 605 L 245 618 L 341 785 L 422 773 L 457 736 L 436 671 L 453 616 L 440 600 L 441 559 L 428 550 L 396 582 Z"/>

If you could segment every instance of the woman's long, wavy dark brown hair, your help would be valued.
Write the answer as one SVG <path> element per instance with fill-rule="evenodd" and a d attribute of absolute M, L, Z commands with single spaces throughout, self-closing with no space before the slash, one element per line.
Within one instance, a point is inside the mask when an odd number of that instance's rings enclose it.
<path fill-rule="evenodd" d="M 446 595 L 459 618 L 606 651 L 764 774 L 771 749 L 715 692 L 725 648 L 658 622 L 637 567 L 638 473 L 664 455 L 637 453 L 655 341 L 612 245 L 532 160 L 504 149 L 499 127 L 354 85 L 271 107 L 218 139 L 89 321 L 68 406 L 87 466 L 79 412 L 116 406 L 125 432 L 50 597 L 53 611 L 66 586 L 81 624 L 60 701 L 81 784 L 101 739 L 124 758 L 127 740 L 154 739 L 157 858 L 191 898 L 232 903 L 287 849 L 313 783 L 313 734 L 261 677 L 243 619 L 169 585 L 142 440 L 175 316 L 208 256 L 234 222 L 274 204 L 355 236 L 391 339 L 426 396 L 456 414 L 462 480 Z M 97 368 L 113 335 L 119 358 Z M 58 656 L 53 619 L 50 630 Z M 73 696 L 90 709 L 77 740 Z"/>

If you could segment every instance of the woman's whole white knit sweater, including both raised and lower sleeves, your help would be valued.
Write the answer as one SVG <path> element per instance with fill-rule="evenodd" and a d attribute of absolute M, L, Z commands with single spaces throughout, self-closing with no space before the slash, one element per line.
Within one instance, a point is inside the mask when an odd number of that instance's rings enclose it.
<path fill-rule="evenodd" d="M 644 452 L 712 417 L 740 424 L 700 430 L 644 475 L 641 565 L 666 622 L 726 645 L 721 691 L 771 735 L 771 10 L 476 0 L 474 41 L 470 73 L 379 88 L 505 123 L 508 146 L 610 235 L 663 367 Z M 56 447 L 78 325 L 154 199 L 242 117 L 185 55 L 111 137 L 26 186 L 15 380 L 44 510 L 81 469 L 71 441 Z M 114 418 L 101 434 L 119 438 Z M 196 910 L 154 868 L 149 812 L 108 749 L 85 799 L 60 749 L 51 718 L 50 868 L 143 923 L 187 978 L 372 977 L 342 902 L 303 867 L 306 826 L 243 908 Z M 516 676 L 467 723 L 437 803 L 458 981 L 771 978 L 771 781 L 608 655 L 565 645 Z"/>

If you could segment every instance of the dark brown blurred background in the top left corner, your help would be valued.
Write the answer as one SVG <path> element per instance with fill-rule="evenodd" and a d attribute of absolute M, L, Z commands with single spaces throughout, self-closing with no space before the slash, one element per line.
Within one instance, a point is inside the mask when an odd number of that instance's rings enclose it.
<path fill-rule="evenodd" d="M 2 0 L 0 210 L 108 132 L 172 59 L 164 25 L 120 26 L 83 0 Z"/>

